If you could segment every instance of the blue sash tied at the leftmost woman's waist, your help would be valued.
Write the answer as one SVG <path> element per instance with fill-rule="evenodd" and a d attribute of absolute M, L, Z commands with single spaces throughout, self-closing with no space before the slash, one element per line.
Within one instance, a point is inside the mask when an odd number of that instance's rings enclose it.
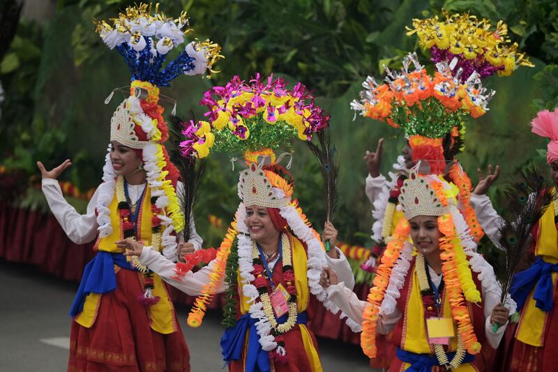
<path fill-rule="evenodd" d="M 89 293 L 107 293 L 116 289 L 114 265 L 127 270 L 135 270 L 122 253 L 99 251 L 93 260 L 89 261 L 83 271 L 80 288 L 77 289 L 70 308 L 71 317 L 83 311 L 85 297 Z"/>

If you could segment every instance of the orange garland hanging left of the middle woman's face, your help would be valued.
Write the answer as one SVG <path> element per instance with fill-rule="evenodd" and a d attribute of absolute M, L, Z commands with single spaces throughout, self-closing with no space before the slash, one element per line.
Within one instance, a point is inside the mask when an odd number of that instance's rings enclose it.
<path fill-rule="evenodd" d="M 207 309 L 207 304 L 211 301 L 211 297 L 215 294 L 215 287 L 217 283 L 223 280 L 225 276 L 225 268 L 227 266 L 227 258 L 229 258 L 229 253 L 231 252 L 232 243 L 236 235 L 239 232 L 236 231 L 236 220 L 231 223 L 231 227 L 227 230 L 227 235 L 225 239 L 221 242 L 220 247 L 217 251 L 216 265 L 213 267 L 211 274 L 209 274 L 209 282 L 204 285 L 204 288 L 200 295 L 196 298 L 195 304 L 192 310 L 188 314 L 188 325 L 190 327 L 199 327 L 202 325 L 204 320 L 205 311 Z"/>

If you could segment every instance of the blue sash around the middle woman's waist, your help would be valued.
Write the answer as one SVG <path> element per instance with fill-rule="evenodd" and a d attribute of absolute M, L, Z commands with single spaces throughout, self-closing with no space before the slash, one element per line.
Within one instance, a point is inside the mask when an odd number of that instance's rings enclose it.
<path fill-rule="evenodd" d="M 287 314 L 277 319 L 278 324 L 287 321 Z M 296 317 L 296 324 L 306 324 L 306 311 L 299 313 Z M 259 344 L 259 335 L 257 334 L 256 320 L 250 318 L 250 314 L 246 313 L 236 320 L 236 325 L 225 329 L 223 337 L 221 337 L 221 353 L 223 360 L 229 364 L 232 360 L 240 360 L 242 357 L 242 348 L 246 337 L 246 331 L 250 327 L 248 334 L 248 350 L 246 350 L 246 372 L 271 372 L 269 364 L 269 352 L 262 349 Z"/>

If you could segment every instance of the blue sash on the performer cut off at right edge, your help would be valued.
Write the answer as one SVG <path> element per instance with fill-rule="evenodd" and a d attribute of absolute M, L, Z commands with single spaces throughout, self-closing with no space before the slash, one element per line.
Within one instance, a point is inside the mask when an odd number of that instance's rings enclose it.
<path fill-rule="evenodd" d="M 533 288 L 536 307 L 542 311 L 552 310 L 552 271 L 558 271 L 558 264 L 550 264 L 537 257 L 529 269 L 518 272 L 511 280 L 511 298 L 518 304 L 518 311 L 523 307 Z"/>

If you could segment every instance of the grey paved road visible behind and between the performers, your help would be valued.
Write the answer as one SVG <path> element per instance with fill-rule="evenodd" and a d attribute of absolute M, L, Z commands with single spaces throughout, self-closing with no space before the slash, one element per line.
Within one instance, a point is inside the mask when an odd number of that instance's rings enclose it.
<path fill-rule="evenodd" d="M 0 260 L 0 372 L 66 371 L 70 319 L 68 308 L 77 289 L 37 269 Z M 178 307 L 190 348 L 192 371 L 225 371 L 219 343 L 219 313 L 208 313 L 204 325 L 186 326 L 188 308 Z M 326 372 L 372 371 L 356 345 L 318 339 Z"/>

